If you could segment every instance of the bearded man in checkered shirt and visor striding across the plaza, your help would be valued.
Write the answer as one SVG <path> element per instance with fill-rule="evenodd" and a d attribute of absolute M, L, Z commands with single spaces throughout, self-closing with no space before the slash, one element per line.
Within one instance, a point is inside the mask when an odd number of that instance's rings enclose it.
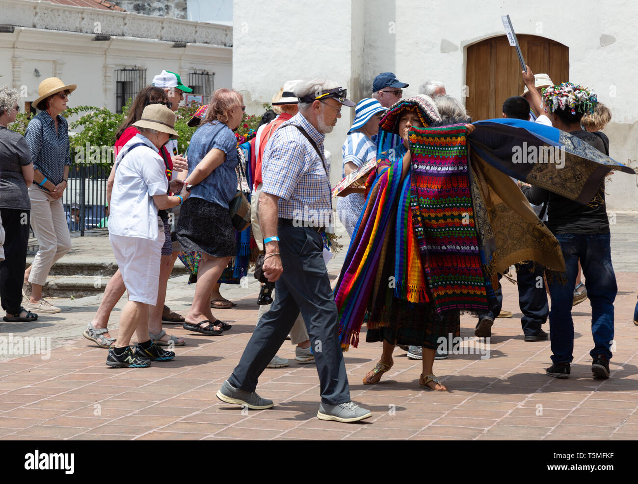
<path fill-rule="evenodd" d="M 341 117 L 341 106 L 355 103 L 346 99 L 345 89 L 319 79 L 297 84 L 295 96 L 299 114 L 279 127 L 263 153 L 259 198 L 266 252 L 263 273 L 276 281 L 275 299 L 217 397 L 253 409 L 272 407 L 271 400 L 255 393 L 257 379 L 301 311 L 320 380 L 318 418 L 357 422 L 372 413 L 350 401 L 321 236 L 332 224 L 330 166 L 323 155 L 323 139 Z"/>

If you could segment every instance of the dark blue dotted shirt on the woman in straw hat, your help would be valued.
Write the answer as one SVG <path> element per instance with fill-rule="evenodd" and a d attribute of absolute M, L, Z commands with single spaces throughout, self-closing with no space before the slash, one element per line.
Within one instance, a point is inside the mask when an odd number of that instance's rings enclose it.
<path fill-rule="evenodd" d="M 27 140 L 31 159 L 33 159 L 33 169 L 38 169 L 57 185 L 62 183 L 64 177 L 64 166 L 71 164 L 71 145 L 69 142 L 69 126 L 66 119 L 57 116 L 56 124 L 47 111 L 40 111 L 27 125 L 24 133 Z M 38 186 L 34 183 L 34 186 Z M 45 190 L 43 187 L 38 187 Z"/>

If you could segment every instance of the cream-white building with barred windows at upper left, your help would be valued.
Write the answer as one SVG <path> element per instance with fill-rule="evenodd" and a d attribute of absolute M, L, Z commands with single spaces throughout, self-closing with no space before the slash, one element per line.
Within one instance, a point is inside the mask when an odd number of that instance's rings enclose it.
<path fill-rule="evenodd" d="M 0 85 L 25 102 L 56 76 L 77 84 L 70 106 L 119 110 L 163 69 L 197 94 L 232 87 L 232 27 L 47 1 L 3 0 Z M 206 96 L 204 96 L 206 97 Z"/>

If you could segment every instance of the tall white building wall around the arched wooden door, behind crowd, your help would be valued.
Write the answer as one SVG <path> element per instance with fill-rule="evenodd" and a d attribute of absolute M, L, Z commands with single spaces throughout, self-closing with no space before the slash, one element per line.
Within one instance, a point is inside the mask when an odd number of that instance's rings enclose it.
<path fill-rule="evenodd" d="M 245 100 L 252 99 L 249 106 L 256 114 L 286 79 L 332 78 L 347 87 L 356 102 L 371 95 L 378 73 L 391 71 L 410 84 L 404 97 L 418 94 L 420 84 L 434 79 L 466 106 L 480 106 L 480 97 L 496 106 L 507 97 L 501 99 L 502 76 L 514 76 L 514 83 L 520 78 L 516 51 L 492 46 L 501 49 L 492 57 L 496 78 L 483 79 L 477 77 L 481 66 L 472 67 L 477 61 L 468 59 L 468 50 L 472 57 L 477 52 L 472 46 L 503 36 L 501 15 L 508 14 L 516 34 L 530 38 L 529 59 L 553 57 L 563 68 L 568 63 L 568 79 L 554 82 L 569 80 L 597 92 L 612 111 L 604 129 L 611 157 L 638 167 L 638 3 L 632 1 L 582 0 L 564 9 L 549 0 L 234 0 L 234 88 L 249 94 Z M 538 53 L 535 45 L 545 50 Z M 557 59 L 554 47 L 561 47 L 565 57 Z M 498 66 L 501 55 L 514 59 L 507 72 Z M 539 72 L 531 60 L 528 63 Z M 520 94 L 516 86 L 509 89 Z M 479 99 L 470 103 L 472 96 Z M 353 117 L 354 109 L 344 108 L 325 141 L 332 152 L 333 184 L 341 178 L 341 145 Z M 608 210 L 638 210 L 637 177 L 614 174 L 605 191 Z"/>

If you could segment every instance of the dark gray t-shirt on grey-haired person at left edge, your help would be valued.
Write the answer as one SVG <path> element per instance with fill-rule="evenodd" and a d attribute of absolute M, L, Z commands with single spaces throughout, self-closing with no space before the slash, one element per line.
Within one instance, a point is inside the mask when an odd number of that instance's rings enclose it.
<path fill-rule="evenodd" d="M 0 208 L 31 210 L 22 167 L 31 163 L 31 152 L 24 137 L 0 126 Z"/>

